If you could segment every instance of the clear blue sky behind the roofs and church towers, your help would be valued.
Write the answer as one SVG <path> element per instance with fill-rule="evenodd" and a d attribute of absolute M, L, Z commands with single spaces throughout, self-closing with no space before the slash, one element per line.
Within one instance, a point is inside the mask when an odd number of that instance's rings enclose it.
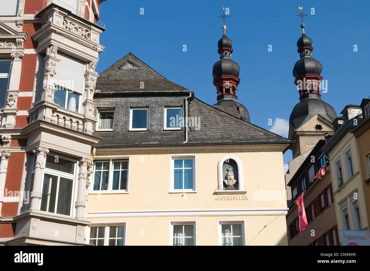
<path fill-rule="evenodd" d="M 233 42 L 232 59 L 240 66 L 238 101 L 248 109 L 253 124 L 271 130 L 268 119 L 272 119 L 273 131 L 287 136 L 287 121 L 299 102 L 292 75 L 302 35 L 296 16 L 299 6 L 307 14 L 303 20 L 305 33 L 313 40 L 312 56 L 322 64 L 321 76 L 328 84 L 322 99 L 339 115 L 345 105 L 360 104 L 370 95 L 370 1 L 366 0 L 107 0 L 100 8 L 107 30 L 100 36 L 106 48 L 99 55 L 97 72 L 131 52 L 167 79 L 192 89 L 197 98 L 215 104 L 212 67 L 219 60 L 222 6 L 229 8 L 226 35 Z M 291 159 L 288 150 L 284 163 Z"/>

